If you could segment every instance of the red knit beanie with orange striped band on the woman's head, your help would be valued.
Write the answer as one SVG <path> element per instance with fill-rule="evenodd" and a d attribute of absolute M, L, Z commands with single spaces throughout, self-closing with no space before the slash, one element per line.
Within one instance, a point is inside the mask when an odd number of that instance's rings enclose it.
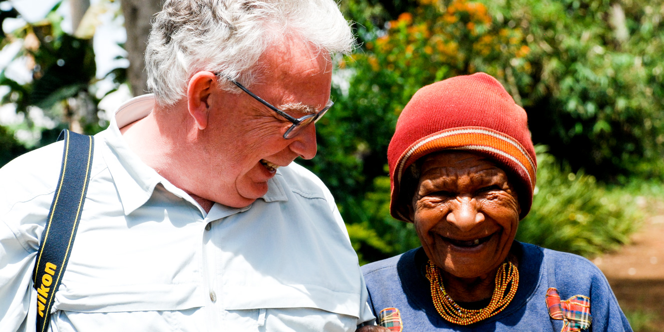
<path fill-rule="evenodd" d="M 537 171 L 528 119 L 495 78 L 457 76 L 422 87 L 410 99 L 387 150 L 392 217 L 410 221 L 412 197 L 400 197 L 402 176 L 416 160 L 440 150 L 467 150 L 495 162 L 515 185 L 521 219 L 528 214 Z"/>

